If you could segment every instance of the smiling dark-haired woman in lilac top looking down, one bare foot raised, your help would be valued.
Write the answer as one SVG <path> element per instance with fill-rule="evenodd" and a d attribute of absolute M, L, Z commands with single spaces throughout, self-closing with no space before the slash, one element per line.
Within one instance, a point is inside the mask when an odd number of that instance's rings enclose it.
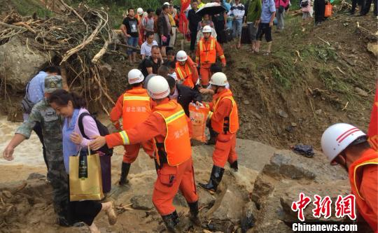
<path fill-rule="evenodd" d="M 78 116 L 81 113 L 87 113 L 85 109 L 86 102 L 85 99 L 78 96 L 75 93 L 69 93 L 65 90 L 56 90 L 52 92 L 51 97 L 49 98 L 50 106 L 55 109 L 57 114 L 64 117 L 64 125 L 62 129 L 63 137 L 63 155 L 64 155 L 64 166 L 66 168 L 66 173 L 69 174 L 69 157 L 78 155 L 80 148 L 87 148 L 91 140 L 84 139 L 78 129 Z M 97 129 L 96 122 L 90 116 L 85 116 L 83 118 L 83 127 L 85 134 L 89 137 L 94 135 L 99 135 L 99 130 Z M 90 153 L 82 151 L 82 155 Z M 90 157 L 93 156 L 93 157 Z M 89 155 L 90 160 L 96 158 L 95 155 Z M 88 157 L 80 156 L 78 160 L 87 159 Z M 96 159 L 97 160 L 97 159 Z M 87 160 L 86 162 L 88 162 Z M 90 163 L 87 163 L 90 166 Z M 98 161 L 97 164 L 99 165 Z M 87 168 L 87 171 L 91 172 L 92 168 Z M 101 185 L 101 169 L 98 169 L 99 175 L 99 185 Z M 78 170 L 79 172 L 79 170 Z M 85 174 L 78 174 L 80 176 L 85 176 Z M 100 188 L 100 187 L 98 187 Z M 100 188 L 102 192 L 102 188 Z M 89 197 L 88 199 L 92 199 Z M 72 199 L 71 199 L 72 201 Z M 92 200 L 83 200 L 79 202 L 70 202 L 71 217 L 73 220 L 82 221 L 89 226 L 91 233 L 99 232 L 99 229 L 94 225 L 94 218 L 99 214 L 100 211 L 105 211 L 108 218 L 109 224 L 114 225 L 117 221 L 116 212 L 114 210 L 113 202 L 100 203 Z"/>

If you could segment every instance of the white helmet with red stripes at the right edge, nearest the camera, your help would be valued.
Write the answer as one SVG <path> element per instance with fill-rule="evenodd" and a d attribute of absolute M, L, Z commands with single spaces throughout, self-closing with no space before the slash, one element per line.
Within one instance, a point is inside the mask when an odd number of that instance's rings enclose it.
<path fill-rule="evenodd" d="M 357 127 L 337 123 L 325 129 L 321 136 L 321 149 L 328 160 L 332 162 L 346 147 L 362 136 L 366 136 L 366 134 Z"/>

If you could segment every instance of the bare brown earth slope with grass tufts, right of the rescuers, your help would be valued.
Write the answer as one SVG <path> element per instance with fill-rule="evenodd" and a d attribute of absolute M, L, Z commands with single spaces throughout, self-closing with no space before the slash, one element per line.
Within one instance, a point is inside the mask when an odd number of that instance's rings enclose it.
<path fill-rule="evenodd" d="M 304 31 L 301 21 L 287 17 L 283 33 L 273 33 L 269 57 L 225 46 L 225 73 L 240 108 L 239 137 L 280 148 L 293 143 L 319 148 L 332 123 L 367 129 L 377 57 L 367 51 L 372 41 L 356 24 L 374 34 L 373 17 L 337 14 L 320 27 L 310 22 Z"/>

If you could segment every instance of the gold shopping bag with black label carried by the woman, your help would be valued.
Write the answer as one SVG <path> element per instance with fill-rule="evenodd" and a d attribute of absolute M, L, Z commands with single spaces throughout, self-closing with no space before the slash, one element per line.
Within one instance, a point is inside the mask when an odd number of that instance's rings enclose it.
<path fill-rule="evenodd" d="M 87 155 L 87 153 L 89 153 Z M 69 157 L 69 199 L 71 202 L 104 198 L 99 155 L 79 151 Z"/>

